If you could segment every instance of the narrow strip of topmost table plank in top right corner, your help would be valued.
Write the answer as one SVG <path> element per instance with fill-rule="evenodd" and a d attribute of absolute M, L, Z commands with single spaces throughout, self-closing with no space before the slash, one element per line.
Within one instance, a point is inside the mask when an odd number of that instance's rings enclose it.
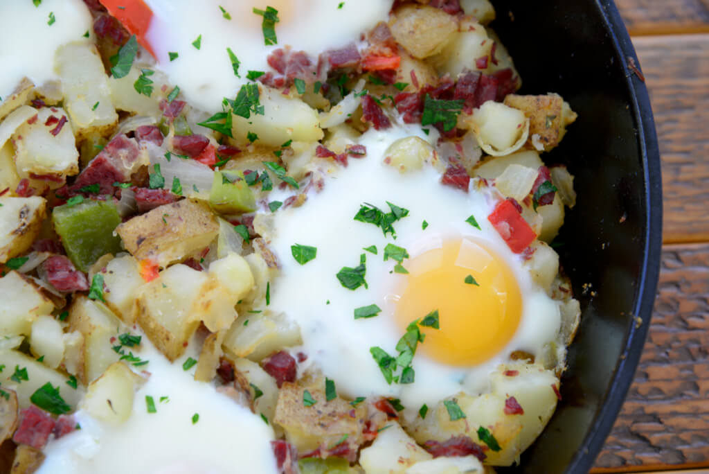
<path fill-rule="evenodd" d="M 631 35 L 709 32 L 709 0 L 615 0 Z"/>

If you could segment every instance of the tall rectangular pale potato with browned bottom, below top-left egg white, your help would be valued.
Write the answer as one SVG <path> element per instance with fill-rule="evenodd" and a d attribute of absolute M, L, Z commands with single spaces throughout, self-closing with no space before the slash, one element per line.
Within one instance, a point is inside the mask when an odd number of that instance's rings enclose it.
<path fill-rule="evenodd" d="M 62 79 L 64 106 L 77 136 L 106 135 L 118 121 L 108 77 L 96 46 L 69 43 L 57 49 L 55 69 Z"/>

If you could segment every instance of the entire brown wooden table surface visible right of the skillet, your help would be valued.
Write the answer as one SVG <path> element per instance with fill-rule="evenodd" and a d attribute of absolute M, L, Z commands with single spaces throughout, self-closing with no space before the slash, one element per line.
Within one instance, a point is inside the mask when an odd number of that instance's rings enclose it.
<path fill-rule="evenodd" d="M 657 125 L 664 248 L 640 366 L 592 472 L 709 473 L 709 0 L 616 4 Z"/>

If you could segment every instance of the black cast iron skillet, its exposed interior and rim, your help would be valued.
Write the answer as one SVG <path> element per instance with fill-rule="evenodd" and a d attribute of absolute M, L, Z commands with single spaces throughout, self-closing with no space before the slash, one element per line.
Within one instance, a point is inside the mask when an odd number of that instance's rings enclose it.
<path fill-rule="evenodd" d="M 582 310 L 557 412 L 520 467 L 498 472 L 586 473 L 632 381 L 657 287 L 662 201 L 652 111 L 628 67 L 631 58 L 639 63 L 612 0 L 493 4 L 491 26 L 523 78 L 520 94 L 558 92 L 579 114 L 545 162 L 576 176 L 578 202 L 556 241 Z"/>

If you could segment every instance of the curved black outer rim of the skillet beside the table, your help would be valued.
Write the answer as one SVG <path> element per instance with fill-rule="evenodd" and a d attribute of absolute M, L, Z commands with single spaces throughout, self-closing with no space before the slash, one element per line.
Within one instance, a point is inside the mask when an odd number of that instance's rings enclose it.
<path fill-rule="evenodd" d="M 660 256 L 662 248 L 662 190 L 660 175 L 660 158 L 655 133 L 652 108 L 650 106 L 647 87 L 644 80 L 628 67 L 630 60 L 640 70 L 635 48 L 630 41 L 623 18 L 613 0 L 595 0 L 598 16 L 603 20 L 603 26 L 613 41 L 618 59 L 626 71 L 626 84 L 632 115 L 637 128 L 637 145 L 640 148 L 643 164 L 643 183 L 645 201 L 644 249 L 642 271 L 638 280 L 637 299 L 633 303 L 633 314 L 642 319 L 637 327 L 630 324 L 622 355 L 615 368 L 613 380 L 605 394 L 605 400 L 596 417 L 593 419 L 588 434 L 582 443 L 582 448 L 571 459 L 566 473 L 587 473 L 593 467 L 596 456 L 601 451 L 610 429 L 615 424 L 618 412 L 623 406 L 625 395 L 635 375 L 637 363 L 647 338 L 652 307 L 657 292 Z"/>

